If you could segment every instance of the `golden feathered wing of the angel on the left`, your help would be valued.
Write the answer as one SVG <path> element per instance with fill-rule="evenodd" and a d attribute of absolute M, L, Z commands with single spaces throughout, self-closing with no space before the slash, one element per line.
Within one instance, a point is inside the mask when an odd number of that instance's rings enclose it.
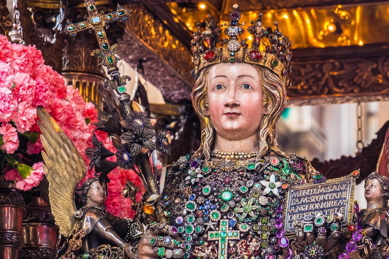
<path fill-rule="evenodd" d="M 41 107 L 37 107 L 42 130 L 40 139 L 45 151 L 44 170 L 49 180 L 51 210 L 60 233 L 68 236 L 75 223 L 74 191 L 79 181 L 85 177 L 87 169 L 80 153 L 53 117 Z"/>

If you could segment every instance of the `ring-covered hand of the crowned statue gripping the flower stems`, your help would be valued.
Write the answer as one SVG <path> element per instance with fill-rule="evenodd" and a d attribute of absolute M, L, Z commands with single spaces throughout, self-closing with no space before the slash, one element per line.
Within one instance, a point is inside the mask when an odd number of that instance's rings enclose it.
<path fill-rule="evenodd" d="M 153 224 L 139 241 L 138 258 L 184 258 L 184 246 L 177 228 L 166 223 Z"/>

